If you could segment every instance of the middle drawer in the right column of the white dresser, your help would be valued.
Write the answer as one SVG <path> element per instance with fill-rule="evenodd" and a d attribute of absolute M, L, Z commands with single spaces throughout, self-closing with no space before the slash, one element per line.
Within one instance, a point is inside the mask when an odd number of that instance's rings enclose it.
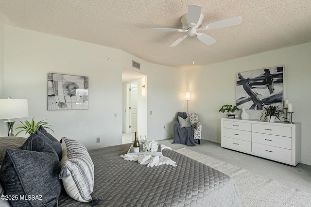
<path fill-rule="evenodd" d="M 292 138 L 252 132 L 252 142 L 292 149 Z"/>

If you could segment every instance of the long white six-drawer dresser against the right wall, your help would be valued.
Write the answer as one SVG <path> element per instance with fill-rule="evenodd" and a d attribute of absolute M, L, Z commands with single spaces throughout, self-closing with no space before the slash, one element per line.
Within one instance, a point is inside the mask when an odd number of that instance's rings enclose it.
<path fill-rule="evenodd" d="M 222 147 L 296 166 L 301 159 L 301 125 L 222 119 Z"/>

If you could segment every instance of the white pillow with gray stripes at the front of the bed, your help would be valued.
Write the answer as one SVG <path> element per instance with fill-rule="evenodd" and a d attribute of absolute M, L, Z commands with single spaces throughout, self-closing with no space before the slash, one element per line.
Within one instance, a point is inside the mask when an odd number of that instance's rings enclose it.
<path fill-rule="evenodd" d="M 91 202 L 94 187 L 94 164 L 86 147 L 75 140 L 63 137 L 61 170 L 62 179 L 68 195 L 81 202 Z"/>

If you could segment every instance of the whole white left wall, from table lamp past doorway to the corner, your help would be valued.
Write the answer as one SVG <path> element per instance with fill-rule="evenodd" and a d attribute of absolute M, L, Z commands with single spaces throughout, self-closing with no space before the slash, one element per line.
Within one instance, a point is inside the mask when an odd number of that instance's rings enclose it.
<path fill-rule="evenodd" d="M 57 139 L 67 136 L 89 149 L 121 144 L 121 70 L 130 68 L 132 59 L 141 63 L 139 72 L 148 77 L 148 111 L 153 111 L 147 117 L 148 139 L 172 136 L 163 125 L 170 125 L 176 111 L 183 110 L 180 94 L 186 90 L 185 71 L 146 63 L 118 49 L 8 25 L 4 26 L 4 40 L 4 96 L 27 98 L 27 119 L 47 119 L 55 126 L 53 135 Z M 108 57 L 113 59 L 112 64 L 106 61 Z M 48 72 L 88 76 L 89 109 L 47 111 Z M 113 113 L 117 113 L 117 119 Z M 5 135 L 4 130 L 0 133 Z M 96 143 L 96 137 L 101 137 L 101 143 Z"/>

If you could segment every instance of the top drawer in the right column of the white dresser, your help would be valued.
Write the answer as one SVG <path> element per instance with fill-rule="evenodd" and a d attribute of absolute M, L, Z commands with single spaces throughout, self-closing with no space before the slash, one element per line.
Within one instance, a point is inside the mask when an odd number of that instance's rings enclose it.
<path fill-rule="evenodd" d="M 272 134 L 284 137 L 292 137 L 292 128 L 283 126 L 252 124 L 252 131 L 264 134 Z"/>

